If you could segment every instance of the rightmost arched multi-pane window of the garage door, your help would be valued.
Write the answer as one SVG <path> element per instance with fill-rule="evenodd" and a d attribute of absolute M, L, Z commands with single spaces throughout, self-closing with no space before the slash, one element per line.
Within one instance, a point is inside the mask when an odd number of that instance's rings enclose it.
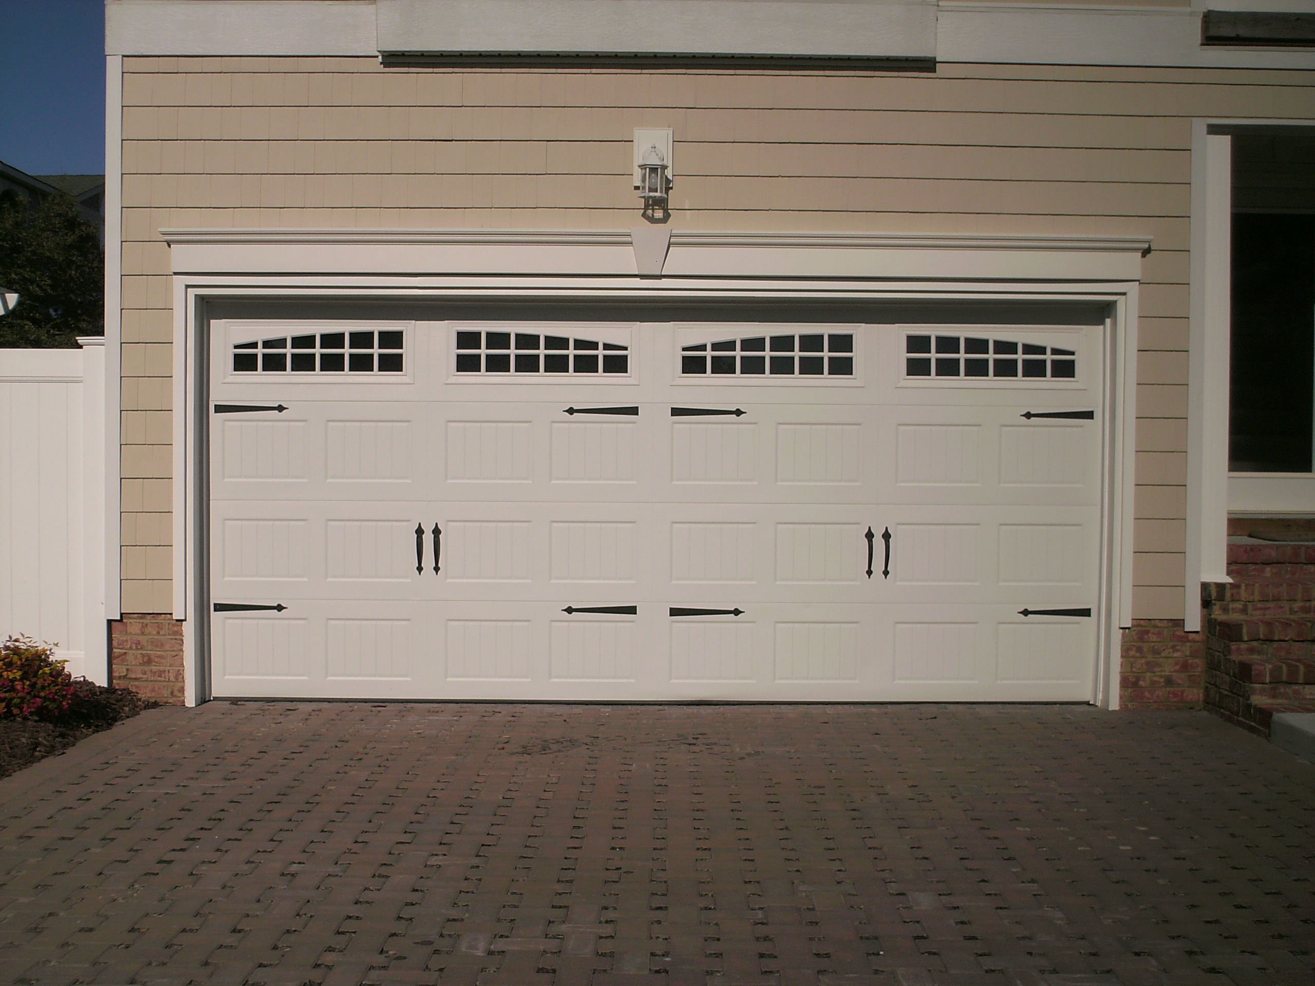
<path fill-rule="evenodd" d="M 931 355 L 931 354 L 935 355 Z M 1018 355 L 1027 356 L 1019 360 Z M 995 359 L 990 359 L 994 354 Z M 905 337 L 905 376 L 973 380 L 1076 380 L 1077 351 L 981 335 Z"/>

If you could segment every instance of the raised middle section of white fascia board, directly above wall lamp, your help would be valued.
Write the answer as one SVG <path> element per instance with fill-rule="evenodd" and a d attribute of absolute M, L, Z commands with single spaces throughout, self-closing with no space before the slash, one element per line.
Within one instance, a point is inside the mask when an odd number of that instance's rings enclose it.
<path fill-rule="evenodd" d="M 932 58 L 934 3 L 379 0 L 397 54 Z"/>

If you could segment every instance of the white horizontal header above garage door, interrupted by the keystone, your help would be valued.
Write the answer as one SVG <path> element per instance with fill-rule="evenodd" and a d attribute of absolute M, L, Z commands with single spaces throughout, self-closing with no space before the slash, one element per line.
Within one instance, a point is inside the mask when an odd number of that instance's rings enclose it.
<path fill-rule="evenodd" d="M 630 233 L 160 230 L 175 273 L 633 277 Z M 665 279 L 1136 281 L 1131 237 L 673 231 Z"/>

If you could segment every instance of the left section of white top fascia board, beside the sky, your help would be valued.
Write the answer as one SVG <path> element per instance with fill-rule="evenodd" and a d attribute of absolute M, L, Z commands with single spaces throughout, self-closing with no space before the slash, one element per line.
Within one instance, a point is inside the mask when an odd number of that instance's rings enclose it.
<path fill-rule="evenodd" d="M 373 0 L 109 0 L 109 55 L 376 55 Z"/>

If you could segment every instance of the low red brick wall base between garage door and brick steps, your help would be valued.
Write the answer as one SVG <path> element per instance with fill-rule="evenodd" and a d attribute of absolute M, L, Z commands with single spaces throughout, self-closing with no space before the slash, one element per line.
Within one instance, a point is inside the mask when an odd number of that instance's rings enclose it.
<path fill-rule="evenodd" d="M 1123 631 L 1120 707 L 1201 709 L 1205 676 L 1205 634 L 1189 634 L 1181 619 L 1135 619 Z"/>

